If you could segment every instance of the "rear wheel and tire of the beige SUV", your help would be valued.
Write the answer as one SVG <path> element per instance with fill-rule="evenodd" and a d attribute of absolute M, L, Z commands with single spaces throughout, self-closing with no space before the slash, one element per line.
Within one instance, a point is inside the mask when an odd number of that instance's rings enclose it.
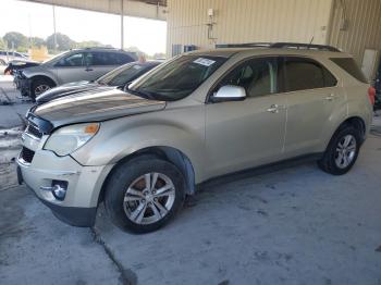
<path fill-rule="evenodd" d="M 344 125 L 331 138 L 323 157 L 318 161 L 319 168 L 333 175 L 347 173 L 355 164 L 360 145 L 361 133 L 351 125 Z"/>

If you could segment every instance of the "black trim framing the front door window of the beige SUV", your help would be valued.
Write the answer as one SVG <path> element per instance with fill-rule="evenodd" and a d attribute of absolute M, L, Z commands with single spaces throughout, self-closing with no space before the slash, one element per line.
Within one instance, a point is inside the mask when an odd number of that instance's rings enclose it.
<path fill-rule="evenodd" d="M 235 70 L 236 67 L 238 67 L 241 64 L 251 61 L 251 60 L 261 60 L 261 59 L 267 59 L 267 58 L 271 58 L 273 59 L 274 63 L 276 64 L 276 72 L 278 72 L 278 76 L 276 76 L 276 92 L 273 94 L 268 94 L 268 95 L 261 95 L 258 97 L 246 97 L 245 100 L 248 99 L 255 99 L 255 98 L 259 98 L 259 97 L 265 97 L 265 96 L 271 96 L 271 95 L 278 95 L 280 94 L 279 90 L 279 86 L 280 86 L 280 76 L 279 76 L 279 63 L 280 63 L 280 54 L 261 54 L 261 55 L 251 55 L 245 59 L 242 59 L 239 61 L 237 61 L 236 63 L 234 63 L 234 65 L 232 65 L 228 71 L 225 71 L 218 80 L 216 80 L 216 83 L 209 88 L 207 97 L 205 99 L 205 103 L 206 104 L 210 104 L 210 103 L 222 103 L 222 102 L 228 102 L 228 101 L 213 101 L 212 100 L 212 96 L 213 96 L 213 90 L 216 89 L 217 85 L 219 85 L 233 70 Z M 221 69 L 222 66 L 220 66 Z"/>

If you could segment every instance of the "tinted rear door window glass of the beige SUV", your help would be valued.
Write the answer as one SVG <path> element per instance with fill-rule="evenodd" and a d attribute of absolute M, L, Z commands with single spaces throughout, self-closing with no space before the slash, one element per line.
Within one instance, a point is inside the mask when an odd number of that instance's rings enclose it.
<path fill-rule="evenodd" d="M 283 90 L 286 92 L 333 87 L 336 78 L 318 62 L 309 59 L 285 58 Z"/>

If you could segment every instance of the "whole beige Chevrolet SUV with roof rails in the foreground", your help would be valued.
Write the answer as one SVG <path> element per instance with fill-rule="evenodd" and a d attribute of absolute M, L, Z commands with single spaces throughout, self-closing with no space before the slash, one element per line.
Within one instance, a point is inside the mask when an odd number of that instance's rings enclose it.
<path fill-rule="evenodd" d="M 331 49 L 186 53 L 126 92 L 32 110 L 19 178 L 72 225 L 93 225 L 105 201 L 121 228 L 155 231 L 213 177 L 307 154 L 348 172 L 372 119 L 368 88 L 353 58 Z"/>

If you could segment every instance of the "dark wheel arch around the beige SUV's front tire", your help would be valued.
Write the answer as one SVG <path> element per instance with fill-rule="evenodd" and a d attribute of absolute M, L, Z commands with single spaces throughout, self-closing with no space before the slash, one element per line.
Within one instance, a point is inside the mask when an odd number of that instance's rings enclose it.
<path fill-rule="evenodd" d="M 152 156 L 159 159 L 163 159 L 165 161 L 169 161 L 173 163 L 179 170 L 182 172 L 185 178 L 186 183 L 186 195 L 194 195 L 196 190 L 196 178 L 195 178 L 195 171 L 194 166 L 192 164 L 190 159 L 181 150 L 173 148 L 173 147 L 167 147 L 167 146 L 157 146 L 157 147 L 147 147 L 143 148 L 140 150 L 137 150 L 122 159 L 120 159 L 115 165 L 111 169 L 111 171 L 108 173 L 107 177 L 103 181 L 103 184 L 101 186 L 99 197 L 98 197 L 98 205 L 105 199 L 106 188 L 108 185 L 108 182 L 113 174 L 113 172 L 122 164 L 127 161 L 131 161 L 133 159 L 136 159 L 138 157 L 143 156 Z"/>

